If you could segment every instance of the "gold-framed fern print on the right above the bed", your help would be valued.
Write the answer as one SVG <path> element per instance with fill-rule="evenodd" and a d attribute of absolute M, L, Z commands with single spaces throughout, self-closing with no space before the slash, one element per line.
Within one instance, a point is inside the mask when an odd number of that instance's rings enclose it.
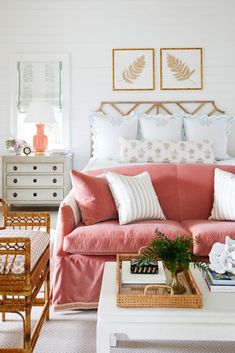
<path fill-rule="evenodd" d="M 200 90 L 202 86 L 202 48 L 160 49 L 162 90 Z"/>

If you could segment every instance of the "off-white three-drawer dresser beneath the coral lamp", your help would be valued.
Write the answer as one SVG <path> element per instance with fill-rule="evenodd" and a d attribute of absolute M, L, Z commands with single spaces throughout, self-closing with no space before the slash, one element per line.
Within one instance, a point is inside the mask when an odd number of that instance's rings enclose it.
<path fill-rule="evenodd" d="M 3 199 L 9 205 L 59 205 L 71 189 L 72 154 L 2 156 Z"/>

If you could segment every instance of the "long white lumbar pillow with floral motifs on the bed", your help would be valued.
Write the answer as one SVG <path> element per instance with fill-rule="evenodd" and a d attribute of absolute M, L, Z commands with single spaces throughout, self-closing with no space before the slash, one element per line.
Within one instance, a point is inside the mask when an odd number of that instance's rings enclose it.
<path fill-rule="evenodd" d="M 128 140 L 120 138 L 120 161 L 127 163 L 215 162 L 211 141 Z"/>

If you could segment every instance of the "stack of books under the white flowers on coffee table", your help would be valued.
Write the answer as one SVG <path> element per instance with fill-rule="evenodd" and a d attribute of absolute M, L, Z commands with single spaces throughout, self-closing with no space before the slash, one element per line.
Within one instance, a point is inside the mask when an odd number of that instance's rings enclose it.
<path fill-rule="evenodd" d="M 205 280 L 211 292 L 235 292 L 235 275 L 231 273 L 217 273 L 205 271 Z"/>

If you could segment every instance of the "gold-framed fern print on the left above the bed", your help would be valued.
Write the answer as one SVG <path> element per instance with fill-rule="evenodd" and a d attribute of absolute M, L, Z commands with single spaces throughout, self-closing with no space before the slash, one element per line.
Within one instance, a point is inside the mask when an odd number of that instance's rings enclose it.
<path fill-rule="evenodd" d="M 113 49 L 113 90 L 155 89 L 154 49 Z"/>

